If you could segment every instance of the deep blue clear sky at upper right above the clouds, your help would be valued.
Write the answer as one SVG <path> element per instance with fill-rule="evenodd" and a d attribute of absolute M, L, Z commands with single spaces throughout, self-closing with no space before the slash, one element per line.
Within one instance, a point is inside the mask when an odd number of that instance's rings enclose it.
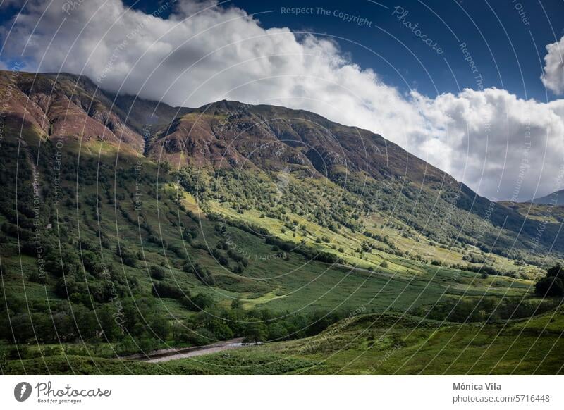
<path fill-rule="evenodd" d="M 148 12 L 158 7 L 154 1 L 126 3 Z M 265 28 L 289 27 L 295 32 L 327 35 L 338 42 L 353 62 L 374 69 L 384 82 L 401 89 L 415 88 L 431 97 L 463 88 L 477 89 L 476 75 L 460 49 L 460 44 L 465 43 L 482 75 L 483 87 L 508 89 L 518 97 L 539 101 L 556 98 L 539 77 L 546 54 L 544 47 L 564 35 L 564 1 L 235 0 L 223 3 L 228 5 L 243 8 L 250 14 L 259 13 L 257 19 Z M 396 6 L 409 12 L 403 21 L 419 23 L 427 38 L 441 45 L 442 55 L 429 49 L 391 16 Z M 317 13 L 318 7 L 331 11 L 331 15 Z M 282 8 L 314 8 L 314 13 L 291 15 L 282 13 Z M 334 11 L 358 15 L 372 22 L 372 27 L 345 23 L 333 15 Z"/>

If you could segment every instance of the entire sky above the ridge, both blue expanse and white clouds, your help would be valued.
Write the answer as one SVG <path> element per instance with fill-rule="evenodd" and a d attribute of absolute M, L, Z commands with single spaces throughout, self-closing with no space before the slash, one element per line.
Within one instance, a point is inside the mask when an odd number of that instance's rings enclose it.
<path fill-rule="evenodd" d="M 4 0 L 0 65 L 314 111 L 493 200 L 564 187 L 564 1 Z"/>

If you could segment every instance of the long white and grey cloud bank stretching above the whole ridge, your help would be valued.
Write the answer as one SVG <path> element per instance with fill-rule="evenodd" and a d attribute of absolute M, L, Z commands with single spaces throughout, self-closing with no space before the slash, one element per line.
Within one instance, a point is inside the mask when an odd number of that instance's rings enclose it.
<path fill-rule="evenodd" d="M 65 11 L 63 0 L 28 2 L 11 32 L 12 22 L 1 28 L 4 55 L 23 53 L 29 70 L 84 74 L 175 106 L 234 99 L 314 111 L 378 132 L 490 198 L 525 200 L 561 187 L 553 177 L 564 159 L 564 101 L 501 89 L 402 94 L 329 37 L 266 30 L 259 16 L 213 1 L 169 0 L 154 15 L 121 0 L 78 3 Z M 553 57 L 546 62 L 544 81 L 553 84 Z"/>

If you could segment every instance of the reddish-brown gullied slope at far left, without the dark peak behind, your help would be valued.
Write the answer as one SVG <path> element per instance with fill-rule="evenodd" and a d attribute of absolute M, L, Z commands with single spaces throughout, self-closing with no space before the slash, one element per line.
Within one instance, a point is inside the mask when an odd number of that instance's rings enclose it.
<path fill-rule="evenodd" d="M 128 127 L 123 116 L 90 80 L 69 75 L 0 73 L 1 87 L 10 87 L 7 127 L 33 128 L 41 138 L 65 141 L 106 142 L 123 149 L 142 151 L 144 142 Z"/>

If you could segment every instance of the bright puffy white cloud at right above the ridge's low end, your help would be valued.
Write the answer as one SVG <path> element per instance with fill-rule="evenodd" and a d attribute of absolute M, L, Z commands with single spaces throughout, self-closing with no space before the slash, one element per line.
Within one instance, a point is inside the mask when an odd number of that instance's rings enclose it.
<path fill-rule="evenodd" d="M 540 103 L 501 89 L 465 89 L 435 99 L 414 94 L 435 130 L 420 145 L 431 163 L 496 199 L 525 200 L 562 187 L 564 100 Z"/>

